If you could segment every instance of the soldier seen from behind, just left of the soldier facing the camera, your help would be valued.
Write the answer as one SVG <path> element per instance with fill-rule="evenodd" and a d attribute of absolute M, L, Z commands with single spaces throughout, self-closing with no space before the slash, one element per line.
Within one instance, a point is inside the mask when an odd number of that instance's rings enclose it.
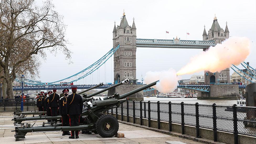
<path fill-rule="evenodd" d="M 52 116 L 57 116 L 57 110 L 59 109 L 59 99 L 60 96 L 58 94 L 56 94 L 57 88 L 53 88 L 52 89 L 53 94 L 51 94 L 49 96 L 49 108 L 51 109 L 51 115 Z M 57 119 L 53 120 L 55 122 L 57 122 Z"/>

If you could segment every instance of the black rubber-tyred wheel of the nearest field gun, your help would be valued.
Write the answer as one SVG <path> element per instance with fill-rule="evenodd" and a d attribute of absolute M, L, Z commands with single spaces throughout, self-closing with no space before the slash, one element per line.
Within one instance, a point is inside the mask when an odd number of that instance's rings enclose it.
<path fill-rule="evenodd" d="M 96 131 L 102 137 L 113 137 L 119 129 L 119 123 L 113 115 L 102 115 L 96 122 Z"/>

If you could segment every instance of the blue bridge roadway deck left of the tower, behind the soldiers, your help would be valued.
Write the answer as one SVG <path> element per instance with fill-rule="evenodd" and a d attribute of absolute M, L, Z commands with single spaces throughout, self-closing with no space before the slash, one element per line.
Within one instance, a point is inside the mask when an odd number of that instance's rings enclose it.
<path fill-rule="evenodd" d="M 88 89 L 91 87 L 96 86 L 96 84 L 92 85 L 76 85 L 77 89 Z M 95 89 L 105 89 L 112 86 L 111 84 L 106 84 L 101 87 L 97 87 Z M 52 88 L 57 88 L 57 89 L 65 89 L 68 88 L 70 89 L 71 86 L 25 86 L 23 87 L 23 90 L 52 90 Z M 22 87 L 13 87 L 13 90 L 21 90 Z"/>

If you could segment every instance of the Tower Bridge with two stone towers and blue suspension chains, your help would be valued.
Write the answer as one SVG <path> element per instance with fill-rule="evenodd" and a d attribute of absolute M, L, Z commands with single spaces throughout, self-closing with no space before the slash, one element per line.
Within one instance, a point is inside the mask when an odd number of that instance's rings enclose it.
<path fill-rule="evenodd" d="M 206 33 L 205 27 L 202 34 L 203 40 L 180 40 L 180 38 L 173 38 L 172 40 L 163 40 L 163 39 L 137 39 L 136 38 L 136 26 L 133 19 L 132 26 L 130 26 L 126 20 L 126 15 L 123 13 L 121 18 L 120 25 L 114 24 L 113 29 L 113 48 L 107 52 L 106 55 L 101 57 L 98 61 L 85 68 L 84 70 L 55 82 L 47 82 L 49 86 L 56 86 L 59 84 L 68 84 L 72 82 L 79 81 L 87 76 L 89 76 L 94 71 L 98 70 L 111 56 L 114 56 L 114 83 L 119 83 L 124 79 L 129 79 L 131 83 L 129 85 L 124 85 L 112 89 L 109 91 L 109 94 L 113 92 L 119 92 L 120 94 L 129 92 L 133 89 L 141 87 L 142 85 L 136 84 L 136 49 L 137 47 L 154 47 L 154 48 L 181 48 L 181 49 L 202 49 L 206 51 L 211 46 L 215 46 L 218 43 L 221 43 L 223 40 L 229 38 L 229 30 L 226 23 L 225 31 L 220 27 L 217 22 L 217 18 L 214 18 L 211 28 Z M 204 72 L 205 84 L 215 84 L 215 83 L 225 83 L 225 87 L 230 83 L 230 70 L 226 70 L 215 73 Z M 245 77 L 246 79 L 246 77 Z M 17 81 L 20 81 L 16 79 Z M 25 83 L 28 85 L 43 85 L 45 82 L 38 82 L 26 79 Z M 191 86 L 187 89 L 196 89 L 199 92 L 202 92 L 202 95 L 207 95 L 209 97 L 211 86 L 198 87 Z M 215 86 L 214 86 L 215 87 Z M 215 88 L 217 88 L 216 86 Z M 220 86 L 222 88 L 222 86 Z M 235 86 L 236 87 L 236 86 Z M 82 88 L 82 87 L 81 87 Z M 83 87 L 83 89 L 86 88 Z M 179 86 L 182 88 L 182 85 Z M 183 87 L 184 88 L 184 87 Z M 186 88 L 186 87 L 185 87 Z M 233 86 L 230 86 L 232 89 Z M 15 88 L 18 90 L 19 88 Z M 28 87 L 29 89 L 29 87 Z M 229 88 L 226 88 L 229 89 Z M 238 89 L 238 86 L 237 86 Z M 221 90 L 221 89 L 220 89 Z M 211 90 L 213 91 L 213 90 Z M 199 94 L 200 95 L 200 94 Z M 134 98 L 143 97 L 143 92 L 134 94 Z M 138 100 L 138 99 L 137 99 Z"/>

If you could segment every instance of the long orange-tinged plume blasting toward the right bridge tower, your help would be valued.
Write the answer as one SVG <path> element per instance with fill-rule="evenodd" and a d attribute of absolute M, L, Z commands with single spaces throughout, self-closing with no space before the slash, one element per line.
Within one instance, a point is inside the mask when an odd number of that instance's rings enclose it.
<path fill-rule="evenodd" d="M 209 50 L 192 57 L 190 62 L 181 68 L 177 75 L 192 74 L 200 71 L 220 72 L 230 68 L 232 64 L 239 65 L 250 53 L 249 39 L 231 37 L 210 47 Z"/>

